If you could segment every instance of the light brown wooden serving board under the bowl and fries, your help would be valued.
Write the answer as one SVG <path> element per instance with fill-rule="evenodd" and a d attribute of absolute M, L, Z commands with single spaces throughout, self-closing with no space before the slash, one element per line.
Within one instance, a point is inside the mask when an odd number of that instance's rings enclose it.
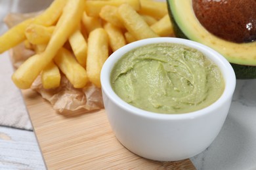
<path fill-rule="evenodd" d="M 141 158 L 120 144 L 104 109 L 59 113 L 32 90 L 22 90 L 47 169 L 195 169 L 191 161 Z"/>

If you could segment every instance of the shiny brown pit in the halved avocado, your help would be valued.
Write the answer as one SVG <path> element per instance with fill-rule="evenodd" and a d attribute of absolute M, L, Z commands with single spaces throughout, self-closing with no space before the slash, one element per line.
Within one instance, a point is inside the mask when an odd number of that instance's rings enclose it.
<path fill-rule="evenodd" d="M 236 43 L 256 40 L 256 0 L 192 0 L 192 7 L 213 35 Z"/>

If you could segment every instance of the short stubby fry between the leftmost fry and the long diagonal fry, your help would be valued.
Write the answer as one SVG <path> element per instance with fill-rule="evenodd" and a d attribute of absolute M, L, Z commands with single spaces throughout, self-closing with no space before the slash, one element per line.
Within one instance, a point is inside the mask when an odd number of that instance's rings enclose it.
<path fill-rule="evenodd" d="M 46 44 L 51 39 L 54 28 L 54 26 L 30 24 L 25 30 L 26 39 L 32 44 Z"/>

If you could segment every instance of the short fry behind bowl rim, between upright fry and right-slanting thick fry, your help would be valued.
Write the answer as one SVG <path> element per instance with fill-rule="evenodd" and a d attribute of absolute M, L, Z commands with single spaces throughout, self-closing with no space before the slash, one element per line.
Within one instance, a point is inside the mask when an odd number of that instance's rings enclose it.
<path fill-rule="evenodd" d="M 113 52 L 121 48 L 122 46 L 125 46 L 125 37 L 119 27 L 116 27 L 115 25 L 107 22 L 104 25 L 104 29 L 108 33 L 108 42 L 110 43 L 110 47 Z"/>

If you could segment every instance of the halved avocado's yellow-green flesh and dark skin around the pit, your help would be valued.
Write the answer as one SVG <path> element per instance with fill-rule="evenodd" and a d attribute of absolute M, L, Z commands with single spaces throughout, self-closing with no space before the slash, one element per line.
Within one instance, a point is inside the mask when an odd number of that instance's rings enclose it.
<path fill-rule="evenodd" d="M 207 31 L 196 18 L 192 0 L 167 0 L 175 36 L 205 44 L 222 54 L 232 65 L 236 78 L 256 78 L 256 42 L 225 41 Z"/>

